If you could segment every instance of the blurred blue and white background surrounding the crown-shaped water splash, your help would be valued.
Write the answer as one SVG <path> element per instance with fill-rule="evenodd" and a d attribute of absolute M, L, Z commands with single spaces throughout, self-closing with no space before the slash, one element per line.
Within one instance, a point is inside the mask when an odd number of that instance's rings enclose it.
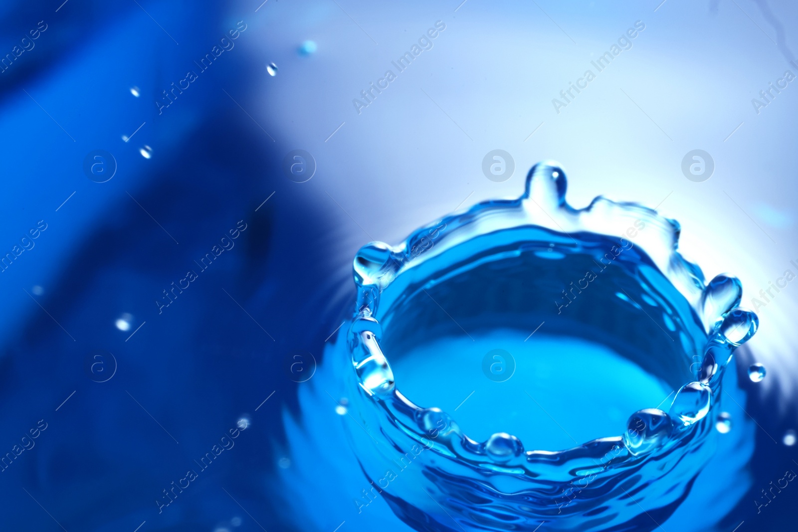
<path fill-rule="evenodd" d="M 431 47 L 358 109 L 439 21 Z M 630 49 L 555 108 L 638 21 Z M 0 445 L 14 459 L 0 472 L 0 528 L 328 530 L 281 502 L 283 421 L 301 417 L 286 361 L 321 362 L 350 312 L 359 246 L 516 197 L 538 160 L 567 169 L 575 207 L 601 194 L 678 219 L 685 256 L 707 278 L 736 274 L 753 306 L 798 262 L 798 85 L 760 96 L 798 75 L 796 22 L 795 4 L 772 0 L 6 0 Z M 497 148 L 516 164 L 503 183 L 481 171 Z M 316 165 L 304 183 L 282 170 L 295 149 Z M 715 165 L 701 183 L 681 172 L 693 149 Z M 105 183 L 84 171 L 95 150 L 113 156 Z M 214 246 L 231 247 L 202 271 Z M 161 307 L 188 270 L 197 278 Z M 728 530 L 793 520 L 794 488 L 759 514 L 751 501 L 798 470 L 783 443 L 798 417 L 796 294 L 790 283 L 757 309 L 760 331 L 738 357 L 768 378 L 741 383 L 760 430 L 753 487 Z M 242 426 L 159 509 L 162 491 Z M 330 471 L 320 466 L 302 498 L 324 500 Z M 326 516 L 328 532 L 344 519 Z"/>

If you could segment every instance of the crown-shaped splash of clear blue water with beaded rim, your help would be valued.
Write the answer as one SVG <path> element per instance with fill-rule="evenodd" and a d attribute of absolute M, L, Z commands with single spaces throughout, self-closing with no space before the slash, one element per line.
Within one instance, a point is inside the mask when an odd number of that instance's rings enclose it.
<path fill-rule="evenodd" d="M 538 164 L 519 199 L 358 252 L 354 315 L 301 394 L 305 427 L 286 420 L 297 442 L 344 422 L 359 471 L 337 489 L 367 482 L 351 511 L 387 503 L 416 530 L 694 530 L 745 491 L 721 482 L 752 451 L 721 413 L 757 329 L 740 282 L 705 282 L 673 220 L 565 193 Z"/>

